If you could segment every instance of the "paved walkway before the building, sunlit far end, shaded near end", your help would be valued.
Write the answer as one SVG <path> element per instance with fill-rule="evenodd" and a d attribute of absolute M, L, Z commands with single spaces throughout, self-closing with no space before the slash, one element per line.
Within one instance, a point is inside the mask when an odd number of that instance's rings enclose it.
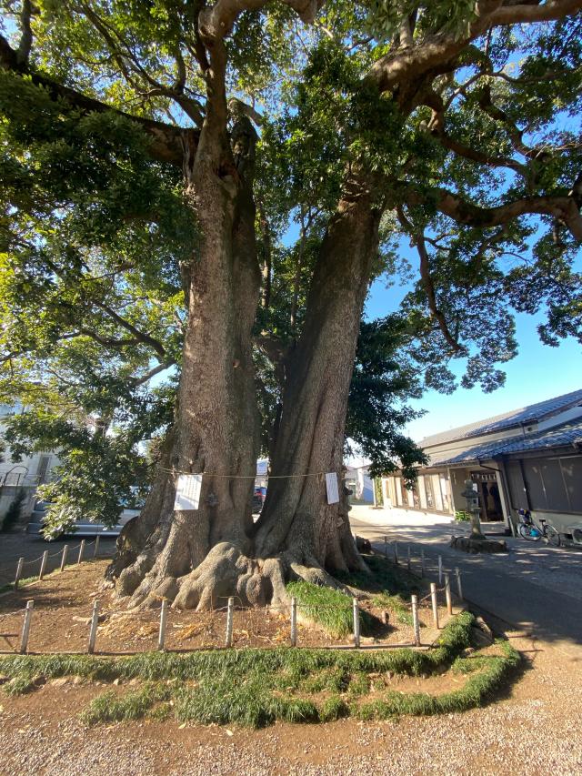
<path fill-rule="evenodd" d="M 446 569 L 461 569 L 466 600 L 582 660 L 581 550 L 507 538 L 507 554 L 468 555 L 449 547 L 451 536 L 468 532 L 467 525 L 442 516 L 355 507 L 350 521 L 353 532 L 376 549 L 384 549 L 386 536 L 393 553 L 396 539 L 405 561 L 409 544 L 416 568 L 425 549 L 427 576 L 433 579 L 441 555 Z M 486 533 L 491 529 L 487 523 L 483 528 Z"/>

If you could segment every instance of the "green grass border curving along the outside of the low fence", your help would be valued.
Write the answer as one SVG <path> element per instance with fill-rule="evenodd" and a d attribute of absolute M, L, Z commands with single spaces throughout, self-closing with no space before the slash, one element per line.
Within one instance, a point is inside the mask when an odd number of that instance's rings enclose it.
<path fill-rule="evenodd" d="M 238 724 L 257 728 L 275 721 L 330 721 L 344 716 L 386 719 L 434 714 L 481 705 L 517 665 L 509 645 L 499 655 L 461 656 L 470 639 L 472 615 L 464 612 L 443 629 L 437 648 L 396 650 L 207 650 L 188 654 L 143 653 L 123 658 L 89 655 L 9 655 L 0 658 L 5 690 L 33 690 L 40 680 L 79 676 L 122 681 L 83 712 L 88 724 L 163 720 Z M 443 668 L 467 676 L 463 688 L 440 696 L 394 693 L 389 676 L 421 677 Z M 123 682 L 137 680 L 125 690 Z M 370 690 L 379 694 L 369 700 Z"/>

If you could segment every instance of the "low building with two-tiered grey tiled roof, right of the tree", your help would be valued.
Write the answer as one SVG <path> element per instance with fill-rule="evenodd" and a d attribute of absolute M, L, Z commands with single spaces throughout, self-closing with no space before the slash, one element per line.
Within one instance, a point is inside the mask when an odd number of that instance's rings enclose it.
<path fill-rule="evenodd" d="M 582 389 L 452 428 L 420 441 L 429 463 L 406 489 L 383 479 L 392 506 L 455 514 L 466 480 L 477 486 L 482 520 L 515 526 L 529 509 L 563 534 L 582 536 Z M 578 532 L 575 531 L 577 536 Z"/>

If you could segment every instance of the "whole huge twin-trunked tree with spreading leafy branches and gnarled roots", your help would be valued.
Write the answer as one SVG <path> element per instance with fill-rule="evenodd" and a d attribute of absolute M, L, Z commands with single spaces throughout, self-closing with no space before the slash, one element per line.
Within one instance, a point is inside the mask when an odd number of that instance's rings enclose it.
<path fill-rule="evenodd" d="M 10 4 L 17 18 L 0 39 L 10 248 L 41 262 L 47 287 L 63 268 L 78 272 L 81 254 L 94 294 L 86 314 L 99 313 L 75 336 L 124 348 L 125 326 L 156 353 L 142 372 L 169 363 L 147 303 L 139 320 L 99 307 L 95 251 L 107 217 L 125 239 L 134 225 L 132 272 L 143 271 L 140 240 L 182 238 L 176 415 L 113 569 L 120 594 L 201 609 L 231 594 L 285 601 L 290 575 L 333 584 L 328 571 L 362 568 L 346 501 L 327 503 L 323 476 L 341 475 L 362 309 L 371 279 L 402 268 L 389 248 L 397 234 L 416 248 L 417 282 L 387 324 L 429 384 L 450 385 L 447 360 L 465 358 L 465 384 L 495 388 L 496 365 L 517 348 L 510 307 L 547 307 L 547 342 L 579 337 L 582 175 L 568 116 L 580 94 L 580 7 Z M 144 186 L 147 176 L 156 182 Z M 179 218 L 166 207 L 173 197 Z M 69 239 L 80 201 L 89 223 Z M 48 214 L 50 232 L 39 226 Z M 281 249 L 290 217 L 299 237 Z M 43 348 L 64 335 L 58 300 L 51 309 Z M 35 352 L 25 339 L 13 359 Z M 254 524 L 257 378 L 271 479 Z M 386 465 L 386 448 L 368 441 Z M 199 509 L 175 511 L 178 473 L 203 473 Z"/>

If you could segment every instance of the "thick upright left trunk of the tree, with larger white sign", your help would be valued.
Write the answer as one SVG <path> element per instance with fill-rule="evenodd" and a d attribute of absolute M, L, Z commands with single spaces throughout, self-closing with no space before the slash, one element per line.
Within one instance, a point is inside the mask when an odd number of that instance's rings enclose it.
<path fill-rule="evenodd" d="M 238 554 L 250 549 L 259 430 L 251 343 L 260 289 L 252 197 L 256 134 L 240 117 L 229 138 L 226 113 L 217 115 L 223 108 L 209 111 L 196 153 L 185 153 L 186 196 L 201 238 L 189 268 L 169 465 L 132 529 L 134 543 L 147 534 L 143 549 L 117 583 L 134 605 L 161 596 L 216 605 L 212 586 L 193 592 L 187 575 L 218 544 Z M 180 473 L 204 474 L 199 509 L 174 510 Z"/>

